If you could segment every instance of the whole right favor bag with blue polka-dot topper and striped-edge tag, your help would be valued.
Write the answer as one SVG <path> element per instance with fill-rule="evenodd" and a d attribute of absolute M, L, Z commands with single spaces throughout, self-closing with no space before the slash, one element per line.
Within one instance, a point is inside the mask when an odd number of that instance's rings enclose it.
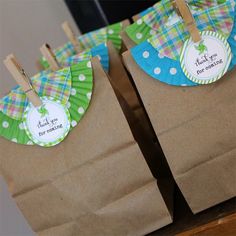
<path fill-rule="evenodd" d="M 156 5 L 155 17 L 160 22 L 149 17 L 159 33 L 124 53 L 123 59 L 174 178 L 196 213 L 236 195 L 236 27 L 234 1 L 188 3 L 198 29 L 214 32 L 201 37 L 219 37 L 226 48 L 224 60 L 215 60 L 205 68 L 210 76 L 210 69 L 226 63 L 220 76 L 196 80 L 186 67 L 183 69 L 179 55 L 185 52 L 181 47 L 189 33 L 169 1 Z M 209 45 L 204 47 L 205 41 L 195 45 L 195 51 L 201 58 L 217 58 Z M 188 62 L 192 58 L 189 56 Z M 195 66 L 201 68 L 204 63 L 198 60 Z"/>

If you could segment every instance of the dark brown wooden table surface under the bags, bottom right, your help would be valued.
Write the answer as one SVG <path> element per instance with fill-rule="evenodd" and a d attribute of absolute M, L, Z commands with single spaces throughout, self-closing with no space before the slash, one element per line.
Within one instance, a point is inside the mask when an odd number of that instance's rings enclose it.
<path fill-rule="evenodd" d="M 176 187 L 174 204 L 173 223 L 150 236 L 236 236 L 236 198 L 194 215 Z"/>

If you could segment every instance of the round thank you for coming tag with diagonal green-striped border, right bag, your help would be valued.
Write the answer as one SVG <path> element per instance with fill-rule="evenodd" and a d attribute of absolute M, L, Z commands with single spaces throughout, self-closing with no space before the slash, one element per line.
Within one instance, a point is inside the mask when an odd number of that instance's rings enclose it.
<path fill-rule="evenodd" d="M 213 31 L 201 32 L 202 40 L 189 38 L 183 46 L 180 63 L 184 74 L 198 84 L 219 80 L 228 70 L 232 54 L 227 39 Z"/>

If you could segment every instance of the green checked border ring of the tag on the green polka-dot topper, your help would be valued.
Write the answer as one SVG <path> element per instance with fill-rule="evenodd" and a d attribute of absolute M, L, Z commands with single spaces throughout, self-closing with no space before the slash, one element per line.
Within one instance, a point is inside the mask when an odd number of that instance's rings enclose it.
<path fill-rule="evenodd" d="M 24 113 L 24 116 L 23 116 L 23 124 L 24 124 L 24 128 L 25 128 L 25 131 L 26 131 L 26 134 L 28 135 L 28 137 L 35 143 L 35 144 L 38 144 L 39 146 L 43 146 L 43 147 L 51 147 L 51 146 L 55 146 L 57 145 L 58 143 L 60 143 L 62 140 L 64 140 L 64 138 L 67 136 L 67 134 L 69 133 L 70 131 L 70 113 L 68 111 L 68 109 L 66 107 L 64 107 L 60 101 L 52 98 L 52 97 L 41 97 L 41 100 L 43 102 L 46 102 L 46 101 L 53 101 L 55 103 L 58 103 L 60 104 L 63 108 L 64 108 L 64 111 L 66 113 L 66 116 L 68 118 L 68 122 L 67 122 L 67 126 L 66 126 L 66 129 L 65 129 L 65 132 L 64 134 L 57 140 L 55 140 L 54 142 L 41 142 L 39 141 L 38 139 L 36 139 L 35 137 L 33 137 L 32 133 L 30 132 L 29 128 L 28 128 L 28 125 L 27 125 L 27 116 L 28 116 L 28 113 L 30 111 L 30 109 L 32 108 L 32 105 L 28 105 L 26 110 L 25 110 L 25 113 Z"/>

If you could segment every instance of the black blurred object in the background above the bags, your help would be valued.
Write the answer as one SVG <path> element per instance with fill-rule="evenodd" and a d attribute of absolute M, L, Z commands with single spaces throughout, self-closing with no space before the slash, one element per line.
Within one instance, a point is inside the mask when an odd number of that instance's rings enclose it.
<path fill-rule="evenodd" d="M 65 0 L 82 33 L 113 24 L 152 6 L 157 0 Z"/>

